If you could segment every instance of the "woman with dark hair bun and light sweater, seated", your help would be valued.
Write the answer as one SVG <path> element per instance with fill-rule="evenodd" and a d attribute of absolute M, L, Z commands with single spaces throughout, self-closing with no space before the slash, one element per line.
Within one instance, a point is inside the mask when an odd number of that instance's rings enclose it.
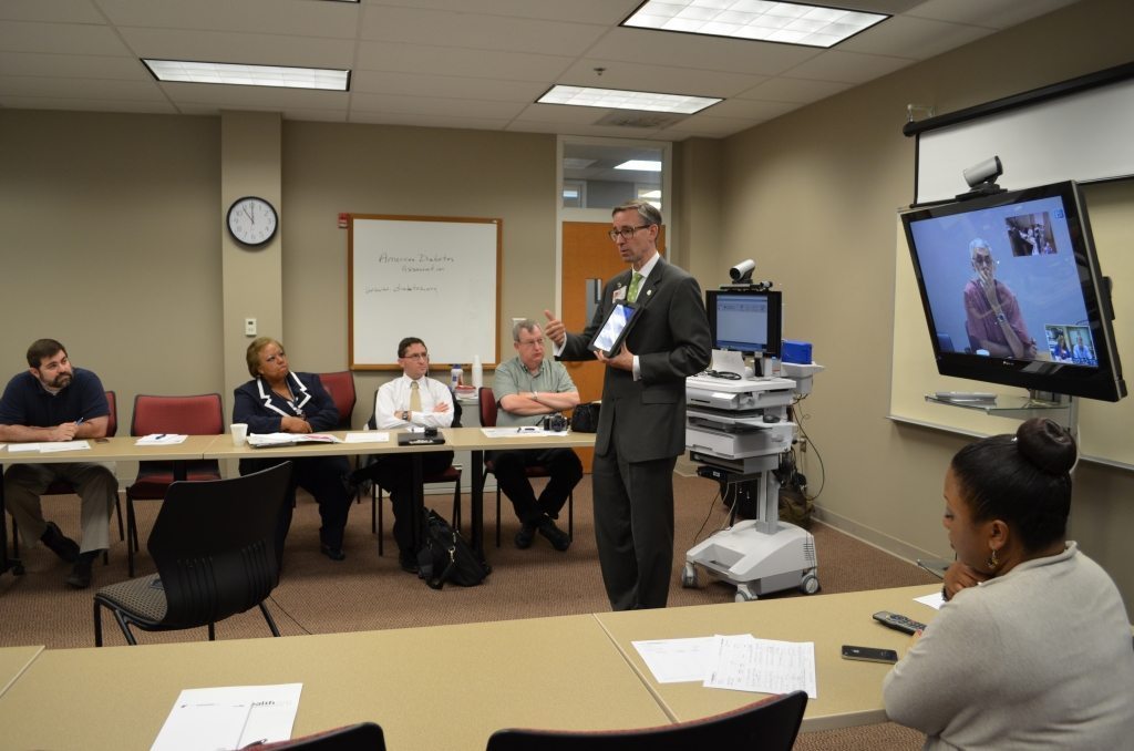
<path fill-rule="evenodd" d="M 1066 540 L 1075 441 L 1050 420 L 945 475 L 947 602 L 882 683 L 925 749 L 1129 749 L 1134 650 L 1107 573 Z"/>

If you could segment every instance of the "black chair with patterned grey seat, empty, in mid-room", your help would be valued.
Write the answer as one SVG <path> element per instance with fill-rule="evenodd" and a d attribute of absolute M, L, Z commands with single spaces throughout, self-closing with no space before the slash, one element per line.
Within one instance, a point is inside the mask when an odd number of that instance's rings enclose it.
<path fill-rule="evenodd" d="M 129 644 L 142 631 L 209 627 L 260 607 L 273 636 L 280 632 L 264 606 L 279 582 L 276 530 L 287 503 L 291 463 L 229 480 L 169 486 L 146 549 L 158 573 L 103 587 L 94 596 L 94 643 L 102 647 L 102 608 Z"/>

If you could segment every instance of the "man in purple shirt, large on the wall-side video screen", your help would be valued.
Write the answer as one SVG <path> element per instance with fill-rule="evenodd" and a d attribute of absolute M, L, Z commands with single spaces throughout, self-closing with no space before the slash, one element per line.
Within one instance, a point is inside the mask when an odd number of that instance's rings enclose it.
<path fill-rule="evenodd" d="M 1027 334 L 1016 295 L 996 280 L 996 259 L 989 244 L 978 237 L 968 244 L 976 278 L 965 285 L 965 332 L 974 352 L 993 357 L 1035 358 L 1035 339 Z"/>

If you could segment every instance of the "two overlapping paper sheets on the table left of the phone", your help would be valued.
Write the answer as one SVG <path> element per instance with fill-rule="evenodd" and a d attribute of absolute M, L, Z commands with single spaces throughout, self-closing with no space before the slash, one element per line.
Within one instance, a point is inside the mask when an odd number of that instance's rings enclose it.
<path fill-rule="evenodd" d="M 814 642 L 756 639 L 752 634 L 635 641 L 658 683 L 700 681 L 709 689 L 818 698 Z"/>

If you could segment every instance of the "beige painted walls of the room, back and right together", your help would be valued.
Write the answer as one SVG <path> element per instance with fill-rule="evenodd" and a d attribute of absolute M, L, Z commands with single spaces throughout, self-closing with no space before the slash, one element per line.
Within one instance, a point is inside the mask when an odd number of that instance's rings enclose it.
<path fill-rule="evenodd" d="M 1125 0 L 1084 0 L 727 141 L 677 144 L 676 260 L 716 286 L 754 258 L 785 292 L 785 334 L 813 341 L 828 366 L 803 403 L 824 464 L 810 450 L 804 470 L 832 523 L 902 555 L 948 552 L 940 478 L 964 438 L 887 419 L 894 212 L 913 179 L 906 104 L 945 112 L 1125 62 L 1132 20 Z M 244 164 L 242 144 L 259 144 L 261 163 Z M 270 326 L 277 310 L 296 368 L 342 370 L 339 212 L 501 217 L 507 356 L 508 319 L 555 299 L 555 153 L 549 135 L 2 110 L 0 374 L 52 336 L 119 391 L 124 432 L 137 393 L 220 391 L 230 410 L 246 341 L 231 329 L 245 315 Z M 255 187 L 240 177 L 261 170 Z M 278 262 L 223 234 L 245 187 L 279 191 Z M 242 310 L 240 289 L 255 310 Z M 280 332 L 262 322 L 261 334 Z M 357 374 L 355 424 L 384 378 Z M 1134 475 L 1083 466 L 1073 534 L 1131 604 L 1128 530 Z"/>

